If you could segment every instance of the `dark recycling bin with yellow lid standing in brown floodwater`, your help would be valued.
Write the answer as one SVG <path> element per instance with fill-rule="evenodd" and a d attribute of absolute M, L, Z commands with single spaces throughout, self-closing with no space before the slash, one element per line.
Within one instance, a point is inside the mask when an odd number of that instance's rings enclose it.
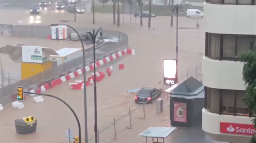
<path fill-rule="evenodd" d="M 37 129 L 37 119 L 33 116 L 16 119 L 14 123 L 16 132 L 19 134 L 33 133 Z"/>

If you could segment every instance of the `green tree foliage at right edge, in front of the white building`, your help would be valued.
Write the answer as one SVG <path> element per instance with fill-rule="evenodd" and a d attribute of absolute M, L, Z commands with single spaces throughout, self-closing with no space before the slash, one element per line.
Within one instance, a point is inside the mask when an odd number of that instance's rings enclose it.
<path fill-rule="evenodd" d="M 238 59 L 244 62 L 243 80 L 245 81 L 246 97 L 244 101 L 251 113 L 256 113 L 256 46 L 252 51 L 243 51 L 238 55 Z M 256 128 L 256 118 L 253 119 Z M 256 143 L 256 134 L 251 138 L 250 143 Z"/>

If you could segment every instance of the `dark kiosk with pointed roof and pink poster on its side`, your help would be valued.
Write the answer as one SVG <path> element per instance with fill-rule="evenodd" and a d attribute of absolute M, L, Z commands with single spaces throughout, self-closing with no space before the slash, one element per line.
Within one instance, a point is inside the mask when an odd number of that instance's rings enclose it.
<path fill-rule="evenodd" d="M 204 108 L 204 86 L 190 77 L 170 93 L 171 125 L 193 127 L 202 122 Z"/>

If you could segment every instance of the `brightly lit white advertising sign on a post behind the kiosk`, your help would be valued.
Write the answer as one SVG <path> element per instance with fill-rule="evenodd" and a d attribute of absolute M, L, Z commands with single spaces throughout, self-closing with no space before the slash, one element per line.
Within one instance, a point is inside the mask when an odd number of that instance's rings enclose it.
<path fill-rule="evenodd" d="M 177 60 L 164 59 L 164 84 L 174 85 L 178 82 Z"/>

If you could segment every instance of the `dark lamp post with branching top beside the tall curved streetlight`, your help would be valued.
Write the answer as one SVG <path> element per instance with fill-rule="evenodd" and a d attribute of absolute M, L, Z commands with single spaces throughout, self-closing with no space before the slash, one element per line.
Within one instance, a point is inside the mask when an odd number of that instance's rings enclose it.
<path fill-rule="evenodd" d="M 95 57 L 95 42 L 96 42 L 96 37 L 97 37 L 97 34 L 99 33 L 99 30 L 100 30 L 100 37 L 102 37 L 102 28 L 99 28 L 97 30 L 97 32 L 95 33 L 94 29 L 92 30 L 92 33 L 91 32 L 86 32 L 86 33 L 89 33 L 89 35 L 91 36 L 91 41 L 93 43 L 93 66 L 94 66 L 94 133 L 95 133 L 95 143 L 98 143 L 98 133 L 97 133 L 97 87 L 96 87 L 96 66 L 95 66 L 95 60 L 96 60 L 96 57 Z"/>

